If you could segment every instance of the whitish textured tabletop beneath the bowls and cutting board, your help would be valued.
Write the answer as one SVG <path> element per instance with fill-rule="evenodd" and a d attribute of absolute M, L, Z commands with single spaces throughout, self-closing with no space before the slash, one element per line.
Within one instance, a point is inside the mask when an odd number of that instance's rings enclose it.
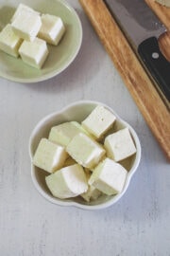
<path fill-rule="evenodd" d="M 0 79 L 0 255 L 169 256 L 169 163 L 78 2 L 68 2 L 84 31 L 75 62 L 46 82 Z M 107 103 L 141 139 L 139 169 L 124 197 L 106 210 L 55 206 L 31 181 L 32 129 L 42 117 L 78 100 Z"/>

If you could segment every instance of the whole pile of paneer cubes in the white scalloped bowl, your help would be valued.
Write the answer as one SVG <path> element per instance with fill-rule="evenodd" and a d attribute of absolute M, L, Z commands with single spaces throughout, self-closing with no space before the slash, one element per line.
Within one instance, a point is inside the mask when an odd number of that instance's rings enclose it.
<path fill-rule="evenodd" d="M 114 131 L 115 122 L 109 109 L 97 105 L 81 123 L 60 123 L 42 137 L 33 164 L 49 173 L 45 182 L 55 197 L 91 202 L 123 191 L 127 170 L 121 161 L 136 147 L 127 127 Z"/>

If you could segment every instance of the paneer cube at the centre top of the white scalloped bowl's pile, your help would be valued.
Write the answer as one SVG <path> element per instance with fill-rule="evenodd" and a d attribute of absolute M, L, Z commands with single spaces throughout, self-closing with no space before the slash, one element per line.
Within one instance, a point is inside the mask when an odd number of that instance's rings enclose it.
<path fill-rule="evenodd" d="M 73 137 L 66 151 L 77 163 L 89 169 L 93 169 L 106 153 L 99 143 L 81 133 Z"/>

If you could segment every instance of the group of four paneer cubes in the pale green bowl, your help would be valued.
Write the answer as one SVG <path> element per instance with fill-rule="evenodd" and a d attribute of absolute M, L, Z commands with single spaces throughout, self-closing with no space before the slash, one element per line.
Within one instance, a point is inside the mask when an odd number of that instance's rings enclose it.
<path fill-rule="evenodd" d="M 0 32 L 0 49 L 40 69 L 49 54 L 47 44 L 58 46 L 64 32 L 60 17 L 20 4 Z"/>

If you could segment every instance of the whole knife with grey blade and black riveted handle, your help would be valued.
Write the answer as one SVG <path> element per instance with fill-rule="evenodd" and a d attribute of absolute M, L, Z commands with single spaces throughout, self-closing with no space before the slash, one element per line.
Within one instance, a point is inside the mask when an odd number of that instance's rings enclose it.
<path fill-rule="evenodd" d="M 110 13 L 137 50 L 143 64 L 170 101 L 170 62 L 159 47 L 160 36 L 167 31 L 144 0 L 105 0 Z"/>

